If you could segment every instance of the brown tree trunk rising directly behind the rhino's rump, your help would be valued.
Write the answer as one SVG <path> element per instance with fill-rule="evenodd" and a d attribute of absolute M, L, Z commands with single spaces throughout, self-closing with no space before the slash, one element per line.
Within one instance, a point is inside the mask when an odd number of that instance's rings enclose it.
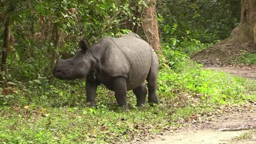
<path fill-rule="evenodd" d="M 162 55 L 156 16 L 156 0 L 147 0 L 147 4 L 148 7 L 145 9 L 143 15 L 142 29 L 145 33 L 147 42 L 159 55 Z"/>

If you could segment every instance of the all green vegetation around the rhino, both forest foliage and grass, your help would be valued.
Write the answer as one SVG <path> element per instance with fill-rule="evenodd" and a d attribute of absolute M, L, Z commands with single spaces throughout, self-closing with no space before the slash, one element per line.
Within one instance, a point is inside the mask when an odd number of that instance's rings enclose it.
<path fill-rule="evenodd" d="M 158 1 L 163 56 L 159 57 L 161 105 L 116 107 L 113 92 L 98 89 L 97 108 L 85 107 L 84 79 L 52 77 L 59 57 L 69 58 L 81 37 L 90 43 L 130 31 L 141 37 L 140 1 L 6 1 L 1 19 L 10 18 L 10 47 L 2 71 L 1 143 L 130 141 L 135 135 L 161 133 L 180 118 L 219 105 L 255 99 L 256 84 L 245 78 L 204 70 L 189 54 L 227 38 L 239 22 L 239 1 Z M 0 23 L 0 45 L 4 25 Z M 245 59 L 246 60 L 246 59 Z M 254 59 L 255 63 L 255 59 Z"/>

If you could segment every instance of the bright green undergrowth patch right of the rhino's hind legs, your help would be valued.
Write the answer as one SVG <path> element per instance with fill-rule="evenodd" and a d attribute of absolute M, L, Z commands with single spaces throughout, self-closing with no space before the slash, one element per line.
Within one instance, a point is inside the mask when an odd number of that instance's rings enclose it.
<path fill-rule="evenodd" d="M 231 76 L 227 73 L 204 70 L 191 62 L 179 69 L 159 72 L 160 95 L 175 97 L 177 92 L 199 94 L 205 103 L 241 101 L 255 94 L 256 83 L 252 80 Z M 250 95 L 250 96 L 249 96 Z"/>

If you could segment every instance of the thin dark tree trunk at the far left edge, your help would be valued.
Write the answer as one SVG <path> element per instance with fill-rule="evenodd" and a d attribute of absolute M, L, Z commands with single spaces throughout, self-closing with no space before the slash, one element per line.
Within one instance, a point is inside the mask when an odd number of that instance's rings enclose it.
<path fill-rule="evenodd" d="M 10 26 L 10 17 L 8 16 L 5 21 L 5 29 L 4 29 L 4 44 L 3 44 L 3 52 L 2 52 L 2 65 L 1 70 L 6 71 L 6 58 L 7 58 L 7 49 L 8 49 L 8 42 L 10 40 L 10 33 L 9 33 L 9 26 Z"/>

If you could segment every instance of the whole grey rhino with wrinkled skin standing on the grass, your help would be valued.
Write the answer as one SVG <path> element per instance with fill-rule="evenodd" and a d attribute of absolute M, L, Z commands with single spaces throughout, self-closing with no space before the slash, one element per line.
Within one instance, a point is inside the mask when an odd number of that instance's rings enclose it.
<path fill-rule="evenodd" d="M 157 89 L 158 59 L 151 46 L 137 34 L 120 38 L 104 37 L 91 47 L 84 38 L 74 57 L 58 60 L 53 76 L 59 79 L 86 77 L 87 105 L 95 105 L 97 87 L 115 91 L 119 106 L 127 106 L 126 92 L 133 90 L 137 106 L 145 104 L 148 82 L 149 103 L 159 103 Z"/>

